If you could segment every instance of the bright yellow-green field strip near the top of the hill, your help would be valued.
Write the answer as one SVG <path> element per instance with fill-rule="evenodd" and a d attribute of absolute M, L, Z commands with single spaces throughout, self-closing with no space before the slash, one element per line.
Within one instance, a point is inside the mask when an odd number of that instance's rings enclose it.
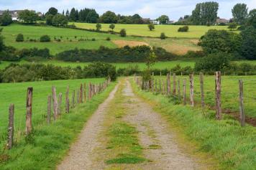
<path fill-rule="evenodd" d="M 70 24 L 75 24 L 78 28 L 83 29 L 95 29 L 96 24 L 88 23 L 78 23 L 70 22 Z M 101 24 L 102 30 L 108 31 L 109 24 Z M 160 37 L 161 32 L 165 32 L 167 37 L 172 38 L 200 38 L 203 36 L 209 29 L 227 29 L 226 26 L 189 26 L 188 32 L 178 32 L 180 25 L 155 25 L 155 30 L 150 31 L 147 24 L 115 24 L 115 32 L 119 32 L 121 29 L 126 29 L 128 35 L 136 35 L 143 37 Z"/>

